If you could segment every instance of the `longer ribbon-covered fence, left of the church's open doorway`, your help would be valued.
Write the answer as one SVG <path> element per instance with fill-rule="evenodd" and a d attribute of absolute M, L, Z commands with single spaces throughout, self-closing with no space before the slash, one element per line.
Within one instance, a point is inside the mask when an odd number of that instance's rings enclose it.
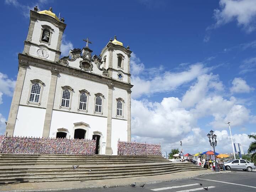
<path fill-rule="evenodd" d="M 0 136 L 0 153 L 95 155 L 96 140 Z"/>

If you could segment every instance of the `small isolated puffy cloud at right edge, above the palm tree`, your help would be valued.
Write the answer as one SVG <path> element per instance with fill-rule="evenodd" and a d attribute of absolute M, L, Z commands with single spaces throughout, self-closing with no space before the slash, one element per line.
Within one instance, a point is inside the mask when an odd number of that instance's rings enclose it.
<path fill-rule="evenodd" d="M 235 78 L 232 84 L 233 86 L 230 88 L 231 93 L 249 93 L 254 90 L 254 88 L 247 85 L 246 81 L 242 78 Z"/>

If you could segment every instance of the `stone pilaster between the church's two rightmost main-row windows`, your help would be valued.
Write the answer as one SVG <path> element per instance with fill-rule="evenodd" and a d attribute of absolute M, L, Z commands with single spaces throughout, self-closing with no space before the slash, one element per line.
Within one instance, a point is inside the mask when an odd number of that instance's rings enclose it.
<path fill-rule="evenodd" d="M 112 131 L 112 101 L 113 101 L 113 86 L 108 85 L 108 108 L 107 108 L 107 142 L 106 155 L 112 155 L 111 148 L 111 131 Z"/>

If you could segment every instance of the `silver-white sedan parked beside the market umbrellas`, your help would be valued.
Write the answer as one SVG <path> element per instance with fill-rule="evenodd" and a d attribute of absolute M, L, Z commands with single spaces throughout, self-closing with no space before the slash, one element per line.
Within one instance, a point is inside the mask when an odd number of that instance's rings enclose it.
<path fill-rule="evenodd" d="M 244 159 L 233 159 L 228 162 L 224 162 L 224 166 L 226 170 L 242 169 L 244 171 L 252 171 L 253 169 L 256 169 L 254 163 Z"/>

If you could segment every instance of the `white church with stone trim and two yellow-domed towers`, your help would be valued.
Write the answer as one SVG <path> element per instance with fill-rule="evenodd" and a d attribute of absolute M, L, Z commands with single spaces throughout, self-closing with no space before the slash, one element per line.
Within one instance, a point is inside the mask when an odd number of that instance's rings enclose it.
<path fill-rule="evenodd" d="M 66 24 L 50 8 L 30 11 L 6 134 L 96 139 L 96 154 L 116 155 L 131 139 L 129 46 L 110 40 L 99 56 L 90 43 L 60 58 Z"/>

